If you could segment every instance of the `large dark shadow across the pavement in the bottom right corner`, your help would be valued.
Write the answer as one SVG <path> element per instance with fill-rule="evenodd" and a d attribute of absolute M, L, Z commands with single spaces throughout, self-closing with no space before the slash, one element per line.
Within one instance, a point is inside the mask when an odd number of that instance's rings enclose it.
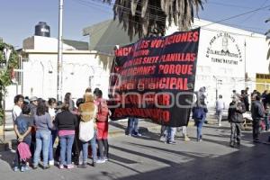
<path fill-rule="evenodd" d="M 268 180 L 270 179 L 269 147 L 263 144 L 257 144 L 251 148 L 242 147 L 241 150 L 220 157 L 197 157 L 191 156 L 178 150 L 168 150 L 165 148 L 151 147 L 147 145 L 140 145 L 130 143 L 134 146 L 145 148 L 156 148 L 167 151 L 168 153 L 175 153 L 178 155 L 195 158 L 187 163 L 174 163 L 164 157 L 154 157 L 146 155 L 142 152 L 135 152 L 131 149 L 112 146 L 129 153 L 136 153 L 142 157 L 148 157 L 159 162 L 166 163 L 168 166 L 157 170 L 138 173 L 126 177 L 118 178 L 120 180 L 145 180 L 145 179 L 188 179 L 188 180 Z M 154 165 L 153 165 L 154 166 Z"/>

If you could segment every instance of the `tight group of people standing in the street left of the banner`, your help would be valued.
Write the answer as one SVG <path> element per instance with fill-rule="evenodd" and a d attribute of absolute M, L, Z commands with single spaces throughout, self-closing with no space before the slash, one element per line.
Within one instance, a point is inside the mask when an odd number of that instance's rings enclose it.
<path fill-rule="evenodd" d="M 40 160 L 43 169 L 55 165 L 55 161 L 60 169 L 73 168 L 74 164 L 86 168 L 88 157 L 92 157 L 92 166 L 105 163 L 109 157 L 108 116 L 107 103 L 98 88 L 93 93 L 87 88 L 76 106 L 70 93 L 65 95 L 64 102 L 16 95 L 13 119 L 18 146 L 14 171 L 26 171 L 30 165 L 36 169 Z M 58 147 L 54 151 L 57 137 Z"/>

